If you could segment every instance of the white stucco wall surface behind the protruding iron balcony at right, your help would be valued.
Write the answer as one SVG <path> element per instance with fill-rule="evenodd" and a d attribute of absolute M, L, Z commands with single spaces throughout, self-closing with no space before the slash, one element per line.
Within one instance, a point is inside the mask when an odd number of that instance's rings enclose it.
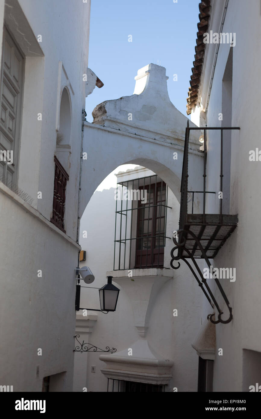
<path fill-rule="evenodd" d="M 209 30 L 219 32 L 221 9 L 225 2 L 213 3 Z M 249 161 L 249 151 L 260 148 L 260 116 L 256 105 L 260 91 L 260 13 L 260 2 L 229 0 L 223 27 L 223 32 L 236 34 L 236 45 L 232 47 L 232 126 L 239 126 L 240 131 L 233 132 L 231 140 L 230 214 L 238 214 L 239 222 L 237 229 L 214 260 L 214 266 L 236 268 L 236 280 L 220 281 L 233 307 L 233 321 L 216 326 L 213 391 L 248 391 L 249 385 L 255 383 L 249 382 L 247 385 L 245 382 L 243 387 L 243 375 L 247 372 L 243 366 L 243 349 L 259 352 L 259 359 L 261 356 L 261 268 L 258 237 L 261 228 L 258 214 L 261 163 Z M 203 108 L 207 103 L 216 45 L 209 44 L 206 47 L 200 91 Z M 221 126 L 218 116 L 222 112 L 222 78 L 229 52 L 230 45 L 220 45 L 207 109 L 207 126 L 210 127 Z M 207 189 L 219 190 L 219 181 L 217 183 L 214 178 L 213 168 L 216 164 L 219 165 L 220 137 L 214 140 L 212 136 L 207 147 L 208 168 L 211 169 L 207 173 Z M 208 212 L 212 209 L 213 206 L 209 206 Z M 217 355 L 219 348 L 223 349 L 222 356 Z"/>

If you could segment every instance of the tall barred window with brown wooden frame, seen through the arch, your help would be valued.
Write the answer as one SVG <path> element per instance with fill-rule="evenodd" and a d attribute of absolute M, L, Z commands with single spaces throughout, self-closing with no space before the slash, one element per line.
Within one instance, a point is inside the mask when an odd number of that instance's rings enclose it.
<path fill-rule="evenodd" d="M 163 267 L 168 186 L 157 175 L 124 181 L 115 199 L 114 270 Z"/>

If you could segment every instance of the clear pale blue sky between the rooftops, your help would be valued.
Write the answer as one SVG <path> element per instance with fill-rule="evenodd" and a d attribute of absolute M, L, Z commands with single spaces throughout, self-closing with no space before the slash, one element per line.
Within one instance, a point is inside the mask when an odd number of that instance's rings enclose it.
<path fill-rule="evenodd" d="M 88 66 L 104 86 L 86 99 L 87 120 L 98 103 L 132 95 L 137 70 L 151 62 L 166 68 L 170 99 L 186 115 L 198 15 L 199 0 L 92 0 Z"/>

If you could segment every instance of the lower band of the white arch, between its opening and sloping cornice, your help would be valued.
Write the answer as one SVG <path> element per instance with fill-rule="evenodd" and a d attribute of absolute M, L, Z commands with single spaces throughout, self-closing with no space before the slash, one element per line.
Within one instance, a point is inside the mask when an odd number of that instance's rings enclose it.
<path fill-rule="evenodd" d="M 103 179 L 123 164 L 137 164 L 152 170 L 163 179 L 180 202 L 183 163 L 180 140 L 148 140 L 119 129 L 87 123 L 84 126 L 83 152 L 87 152 L 88 158 L 83 160 L 82 166 L 80 217 Z M 177 153 L 175 160 L 173 153 Z M 201 156 L 192 154 L 192 158 L 193 166 L 202 164 Z M 195 184 L 195 179 L 193 181 Z"/>

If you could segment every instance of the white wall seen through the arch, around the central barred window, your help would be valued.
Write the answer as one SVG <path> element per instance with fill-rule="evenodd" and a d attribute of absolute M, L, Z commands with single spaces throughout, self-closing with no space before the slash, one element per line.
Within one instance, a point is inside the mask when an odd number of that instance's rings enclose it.
<path fill-rule="evenodd" d="M 132 174 L 132 171 L 128 171 L 126 174 L 119 175 L 118 180 L 142 177 L 142 171 L 137 173 L 134 170 L 133 172 Z M 151 171 L 145 170 L 143 176 L 150 174 Z M 106 271 L 113 269 L 116 208 L 114 190 L 115 188 L 96 191 L 81 219 L 80 232 L 87 230 L 88 237 L 86 239 L 82 235 L 80 236 L 80 244 L 83 250 L 86 250 L 86 261 L 80 262 L 80 266 L 89 266 L 95 275 L 95 281 L 89 285 L 90 287 L 104 285 Z M 166 235 L 172 236 L 173 230 L 178 228 L 179 203 L 170 189 L 168 190 L 168 205 L 172 209 L 168 209 L 167 213 Z M 166 265 L 166 267 L 170 267 L 170 249 L 172 247 L 172 240 L 167 240 L 164 254 L 164 266 Z M 137 269 L 137 271 L 140 271 L 142 275 L 146 269 Z M 138 306 L 136 309 L 134 308 L 137 305 L 135 301 L 132 305 L 132 294 L 136 292 L 138 299 L 139 295 L 145 295 L 150 279 L 142 280 L 134 277 L 134 282 L 128 277 L 117 279 L 118 272 L 115 271 L 115 274 L 112 272 L 114 284 L 121 289 L 116 311 L 109 314 L 97 312 L 98 319 L 92 328 L 92 333 L 88 336 L 89 342 L 100 348 L 105 348 L 107 345 L 115 347 L 116 355 L 126 348 L 133 347 L 133 357 L 146 358 L 145 347 L 139 345 L 147 340 L 153 353 L 162 359 L 173 361 L 171 369 L 173 377 L 165 391 L 171 392 L 173 387 L 177 387 L 178 391 L 196 391 L 198 357 L 191 347 L 191 342 L 194 341 L 202 324 L 202 291 L 189 269 L 184 264 L 177 271 L 169 269 L 171 279 L 163 284 L 157 297 L 153 300 L 146 337 L 139 336 L 137 328 L 134 326 L 137 320 L 135 310 L 137 311 Z M 157 282 L 157 278 L 155 281 Z M 160 277 L 158 281 L 160 281 Z M 81 281 L 81 285 L 85 285 L 83 281 Z M 142 304 L 142 301 L 140 303 Z M 80 307 L 99 308 L 98 290 L 82 289 Z M 174 309 L 178 310 L 177 317 L 173 317 Z M 88 313 L 94 312 L 89 311 Z M 82 316 L 82 318 L 84 317 Z M 81 338 L 83 341 L 86 335 L 81 335 Z M 77 373 L 75 371 L 74 391 L 83 391 L 83 377 L 86 380 L 87 391 L 107 391 L 107 378 L 101 373 L 105 364 L 99 360 L 99 355 L 101 353 L 88 353 L 88 361 L 86 361 L 85 354 L 75 354 Z M 80 357 L 82 357 L 81 360 Z M 91 366 L 96 366 L 95 373 L 91 372 Z"/>

